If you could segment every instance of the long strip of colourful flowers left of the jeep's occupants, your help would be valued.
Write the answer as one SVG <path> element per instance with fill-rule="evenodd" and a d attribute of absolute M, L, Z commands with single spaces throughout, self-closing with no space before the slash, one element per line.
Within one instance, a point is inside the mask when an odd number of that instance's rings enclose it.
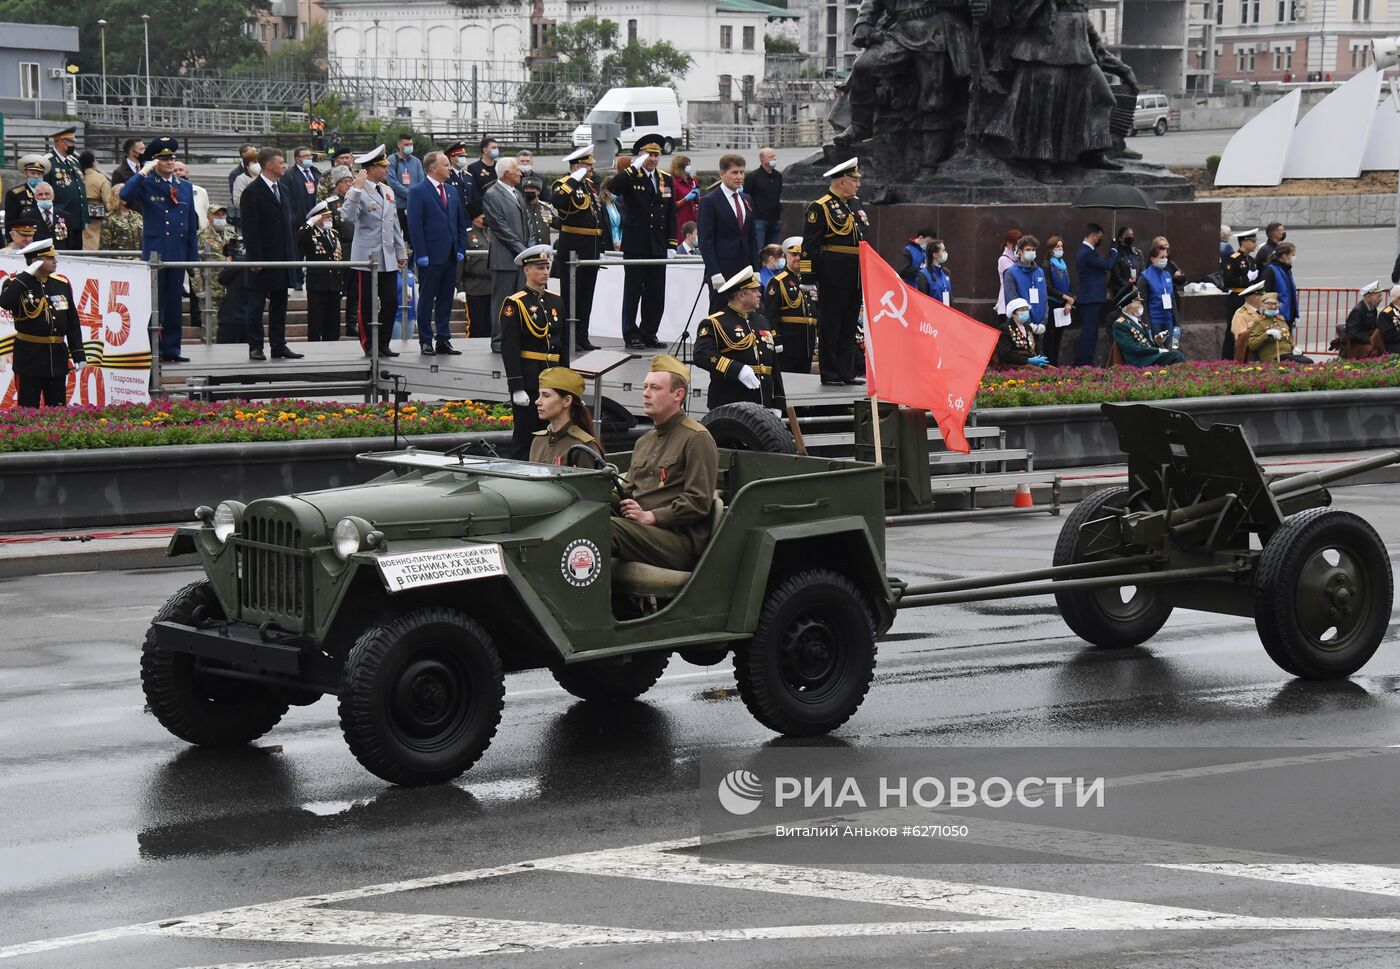
<path fill-rule="evenodd" d="M 405 403 L 399 433 L 461 434 L 510 430 L 505 405 L 475 400 Z M 249 403 L 158 402 L 108 407 L 0 410 L 0 452 L 130 448 L 168 444 L 389 437 L 392 403 L 265 400 Z"/>

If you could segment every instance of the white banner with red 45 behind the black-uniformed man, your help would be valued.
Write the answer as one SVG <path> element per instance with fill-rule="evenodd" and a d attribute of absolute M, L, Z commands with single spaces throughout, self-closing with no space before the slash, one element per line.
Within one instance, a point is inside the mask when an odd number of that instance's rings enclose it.
<path fill-rule="evenodd" d="M 0 252 L 0 286 L 24 269 L 24 259 Z M 69 403 L 148 403 L 151 399 L 151 274 L 144 262 L 84 259 L 59 253 L 59 274 L 73 286 L 83 349 L 88 365 L 83 379 L 69 374 Z M 0 410 L 15 406 L 14 321 L 0 309 Z"/>

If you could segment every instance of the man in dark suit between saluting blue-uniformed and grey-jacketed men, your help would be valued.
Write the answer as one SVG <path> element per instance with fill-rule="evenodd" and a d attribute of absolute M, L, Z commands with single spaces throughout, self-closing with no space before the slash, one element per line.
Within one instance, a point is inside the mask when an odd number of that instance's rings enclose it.
<path fill-rule="evenodd" d="M 287 160 L 277 148 L 262 148 L 258 164 L 262 171 L 239 199 L 248 262 L 290 262 L 297 258 L 297 241 L 291 231 L 293 203 L 281 181 L 287 174 Z M 262 326 L 266 301 L 267 342 L 272 344 L 273 360 L 300 360 L 304 354 L 287 346 L 287 287 L 291 284 L 291 272 L 259 266 L 252 266 L 251 272 L 253 300 L 248 314 L 248 358 L 267 358 L 263 356 Z"/>

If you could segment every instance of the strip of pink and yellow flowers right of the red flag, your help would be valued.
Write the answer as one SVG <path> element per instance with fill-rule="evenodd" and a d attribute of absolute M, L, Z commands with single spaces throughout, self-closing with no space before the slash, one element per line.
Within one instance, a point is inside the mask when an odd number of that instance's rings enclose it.
<path fill-rule="evenodd" d="M 1147 370 L 1046 367 L 988 371 L 977 389 L 976 406 L 1035 407 L 1385 386 L 1400 386 L 1400 358 L 1329 361 L 1310 367 L 1226 361 L 1193 361 Z"/>

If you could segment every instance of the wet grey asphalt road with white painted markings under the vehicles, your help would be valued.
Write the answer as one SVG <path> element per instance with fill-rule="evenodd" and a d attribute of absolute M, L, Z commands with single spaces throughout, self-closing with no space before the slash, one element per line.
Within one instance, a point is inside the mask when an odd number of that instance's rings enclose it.
<path fill-rule="evenodd" d="M 1392 493 L 1345 489 L 1336 504 L 1371 520 L 1394 560 Z M 1036 567 L 1060 521 L 895 529 L 890 573 Z M 708 809 L 720 774 L 697 765 L 717 748 L 734 766 L 774 748 L 732 693 L 728 664 L 675 660 L 644 702 L 605 710 L 545 672 L 511 676 L 477 767 L 456 786 L 399 790 L 347 753 L 332 700 L 294 707 L 259 748 L 237 753 L 189 749 L 143 714 L 146 623 L 192 577 L 0 583 L 0 969 L 1400 963 L 1400 870 L 1376 867 L 1400 863 L 1390 755 L 1152 773 L 1271 756 L 1166 751 L 1138 766 L 1147 780 L 1128 784 L 1133 816 L 1119 818 L 1117 835 L 1065 844 L 1056 839 L 1074 816 L 1022 811 L 1021 830 L 983 811 L 981 849 L 951 850 L 942 864 L 879 865 L 841 846 L 806 884 L 809 870 L 742 865 L 820 865 L 820 854 L 795 861 L 774 839 L 720 839 L 692 853 L 715 864 L 680 871 L 676 856 L 637 846 L 703 829 L 697 800 Z M 1102 654 L 1068 633 L 1049 598 L 920 609 L 883 641 L 871 696 L 839 738 L 854 751 L 995 748 L 966 760 L 1004 758 L 1022 773 L 1051 758 L 1033 748 L 1385 748 L 1400 744 L 1400 648 L 1392 625 L 1361 675 L 1303 683 L 1268 661 L 1242 619 L 1177 612 L 1148 647 Z M 1110 752 L 1079 756 L 1134 774 Z M 1306 815 L 1296 832 L 1294 807 Z M 1228 822 L 1193 832 L 1182 816 L 1197 811 Z M 1330 816 L 1336 828 L 1316 826 Z M 1247 847 L 1259 864 L 1121 863 L 1152 839 Z M 1156 850 L 1158 864 L 1194 857 Z M 602 854 L 559 860 L 592 851 Z M 1284 864 L 1295 854 L 1343 864 L 1299 874 Z M 532 860 L 542 861 L 512 867 Z M 508 868 L 479 871 L 496 865 Z M 449 872 L 476 874 L 398 885 Z M 319 907 L 305 899 L 330 892 L 344 895 Z M 239 906 L 263 907 L 228 912 Z M 186 919 L 210 912 L 220 914 Z M 1288 921 L 1323 917 L 1338 921 Z M 97 935 L 25 945 L 81 933 Z"/>

